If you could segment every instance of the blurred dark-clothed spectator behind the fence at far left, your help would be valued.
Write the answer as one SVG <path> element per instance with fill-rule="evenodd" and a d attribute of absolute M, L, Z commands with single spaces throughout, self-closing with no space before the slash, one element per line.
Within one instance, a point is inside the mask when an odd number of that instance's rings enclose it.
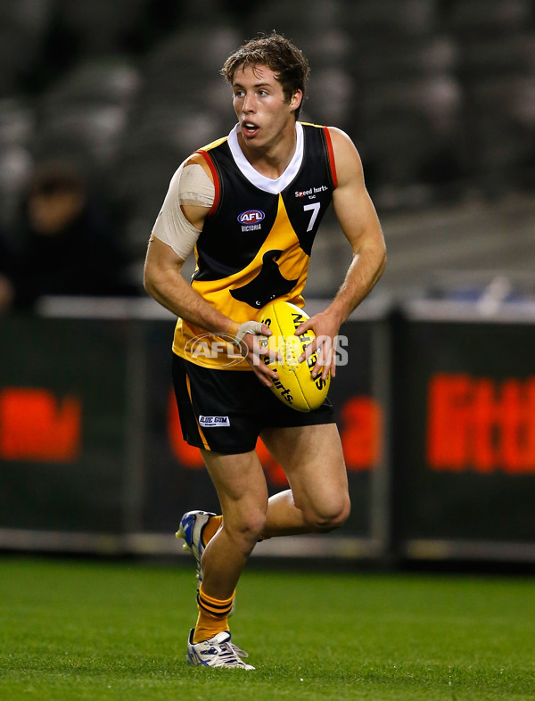
<path fill-rule="evenodd" d="M 23 203 L 15 250 L 6 252 L 4 276 L 12 285 L 12 309 L 31 309 L 43 295 L 124 296 L 126 256 L 103 206 L 70 164 L 37 168 Z M 0 272 L 2 269 L 0 268 Z M 4 280 L 4 307 L 9 298 Z M 0 298 L 2 288 L 0 287 Z"/>

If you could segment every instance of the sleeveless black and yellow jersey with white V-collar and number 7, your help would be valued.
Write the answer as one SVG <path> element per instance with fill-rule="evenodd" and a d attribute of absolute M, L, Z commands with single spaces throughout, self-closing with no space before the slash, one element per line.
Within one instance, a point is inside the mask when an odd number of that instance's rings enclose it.
<path fill-rule="evenodd" d="M 239 324 L 275 299 L 304 306 L 314 237 L 336 187 L 327 128 L 296 124 L 292 161 L 276 180 L 261 175 L 238 144 L 237 127 L 200 149 L 215 198 L 195 246 L 192 286 Z M 173 351 L 205 367 L 251 369 L 226 339 L 178 319 Z"/>

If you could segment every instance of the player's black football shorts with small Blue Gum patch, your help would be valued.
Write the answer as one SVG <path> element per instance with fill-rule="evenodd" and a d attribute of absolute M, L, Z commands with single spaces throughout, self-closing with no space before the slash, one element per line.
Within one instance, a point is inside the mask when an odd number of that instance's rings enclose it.
<path fill-rule="evenodd" d="M 180 424 L 190 445 L 218 453 L 246 453 L 264 428 L 333 424 L 327 398 L 314 411 L 287 407 L 246 370 L 213 370 L 173 353 Z"/>

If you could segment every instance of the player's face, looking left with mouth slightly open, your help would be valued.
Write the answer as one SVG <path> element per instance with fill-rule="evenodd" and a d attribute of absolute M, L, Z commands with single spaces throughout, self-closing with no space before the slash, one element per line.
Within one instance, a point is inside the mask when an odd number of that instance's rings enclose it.
<path fill-rule="evenodd" d="M 267 66 L 241 66 L 233 80 L 234 108 L 242 130 L 243 144 L 268 149 L 295 132 L 293 111 L 302 94 L 297 90 L 290 101 L 273 70 Z"/>

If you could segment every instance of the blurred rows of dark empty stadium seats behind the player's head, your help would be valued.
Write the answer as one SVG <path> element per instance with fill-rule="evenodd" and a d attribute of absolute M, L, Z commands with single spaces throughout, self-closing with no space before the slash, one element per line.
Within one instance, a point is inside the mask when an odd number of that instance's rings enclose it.
<path fill-rule="evenodd" d="M 312 69 L 302 118 L 346 130 L 383 212 L 531 192 L 531 0 L 0 0 L 0 226 L 32 163 L 69 157 L 133 252 L 169 178 L 235 115 L 218 71 L 276 29 Z"/>

